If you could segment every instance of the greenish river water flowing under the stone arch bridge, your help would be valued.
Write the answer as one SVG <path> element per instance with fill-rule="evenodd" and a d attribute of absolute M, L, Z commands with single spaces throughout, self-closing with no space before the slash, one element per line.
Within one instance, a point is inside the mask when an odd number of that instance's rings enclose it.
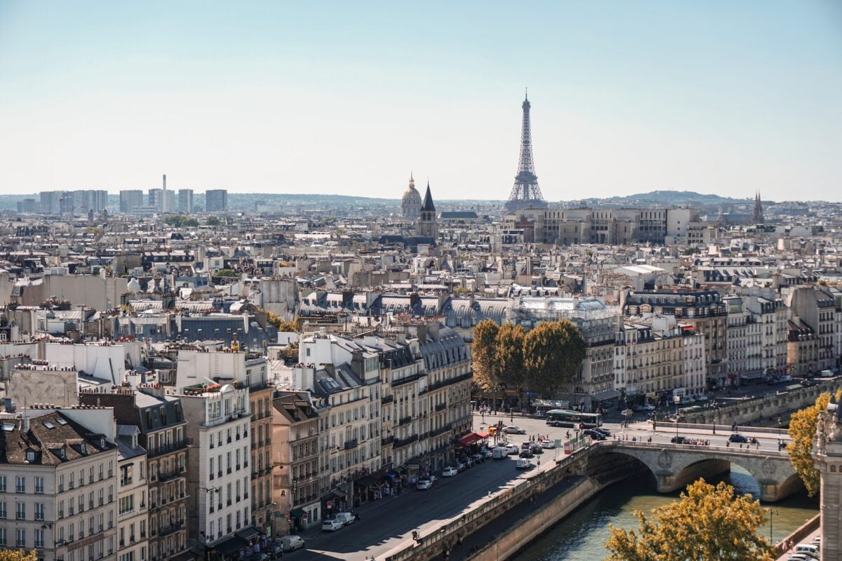
<path fill-rule="evenodd" d="M 722 480 L 732 484 L 738 493 L 759 496 L 757 482 L 738 466 L 733 466 L 730 474 L 711 479 L 710 483 L 715 484 Z M 678 495 L 679 491 L 672 495 L 658 494 L 651 476 L 615 484 L 530 543 L 514 556 L 514 560 L 601 561 L 608 555 L 605 541 L 609 536 L 610 524 L 623 528 L 637 527 L 634 511 L 649 514 L 653 508 L 676 500 Z M 777 503 L 764 506 L 776 512 L 772 521 L 772 537 L 774 542 L 777 542 L 818 513 L 818 497 L 809 499 L 806 492 L 801 491 Z M 759 532 L 768 539 L 768 520 L 765 526 L 759 528 Z"/>

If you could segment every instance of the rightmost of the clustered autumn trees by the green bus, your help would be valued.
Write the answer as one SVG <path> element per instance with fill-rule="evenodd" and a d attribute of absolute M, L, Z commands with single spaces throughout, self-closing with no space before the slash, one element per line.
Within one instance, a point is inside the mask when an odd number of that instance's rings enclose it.
<path fill-rule="evenodd" d="M 584 357 L 584 339 L 570 320 L 542 321 L 524 340 L 526 385 L 552 398 L 573 380 Z"/>

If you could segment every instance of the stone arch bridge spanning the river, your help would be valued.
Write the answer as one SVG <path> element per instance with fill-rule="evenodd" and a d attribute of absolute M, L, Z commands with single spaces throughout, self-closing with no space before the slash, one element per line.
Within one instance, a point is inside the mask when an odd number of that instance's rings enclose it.
<path fill-rule="evenodd" d="M 733 447 L 662 444 L 657 442 L 603 441 L 589 447 L 589 474 L 605 466 L 623 464 L 623 457 L 635 458 L 658 481 L 658 492 L 683 489 L 701 477 L 730 471 L 736 464 L 749 472 L 760 486 L 760 500 L 774 502 L 801 489 L 802 482 L 786 452 Z"/>

